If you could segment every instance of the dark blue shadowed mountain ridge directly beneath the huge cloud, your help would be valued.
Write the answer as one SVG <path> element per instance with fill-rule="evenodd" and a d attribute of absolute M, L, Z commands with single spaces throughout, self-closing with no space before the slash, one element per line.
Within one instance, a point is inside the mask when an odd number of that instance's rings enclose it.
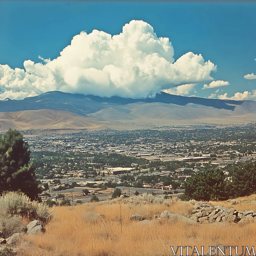
<path fill-rule="evenodd" d="M 5 100 L 0 100 L 0 112 L 52 109 L 70 111 L 78 115 L 87 116 L 87 114 L 97 112 L 107 107 L 132 104 L 136 102 L 161 102 L 166 104 L 176 104 L 180 106 L 185 106 L 188 103 L 194 103 L 207 107 L 227 109 L 231 111 L 233 111 L 236 106 L 242 105 L 245 102 L 256 103 L 255 101 L 250 100 L 219 100 L 199 97 L 185 97 L 165 92 L 156 94 L 155 98 L 132 99 L 118 96 L 107 98 L 93 95 L 52 91 L 45 92 L 38 96 L 28 97 L 23 100 L 11 100 L 8 98 Z"/>

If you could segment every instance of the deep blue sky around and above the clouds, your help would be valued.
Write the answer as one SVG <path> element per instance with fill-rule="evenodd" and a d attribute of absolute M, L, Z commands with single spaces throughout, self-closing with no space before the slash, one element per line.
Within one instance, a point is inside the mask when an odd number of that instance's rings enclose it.
<path fill-rule="evenodd" d="M 131 20 L 143 20 L 157 37 L 170 39 L 175 60 L 187 52 L 202 54 L 217 65 L 212 78 L 229 83 L 205 90 L 209 82 L 198 83 L 186 96 L 208 97 L 219 89 L 214 98 L 231 97 L 256 89 L 256 79 L 244 78 L 256 74 L 255 17 L 256 3 L 0 2 L 0 64 L 24 69 L 24 60 L 42 62 L 39 55 L 57 58 L 81 31 L 113 36 Z"/>

